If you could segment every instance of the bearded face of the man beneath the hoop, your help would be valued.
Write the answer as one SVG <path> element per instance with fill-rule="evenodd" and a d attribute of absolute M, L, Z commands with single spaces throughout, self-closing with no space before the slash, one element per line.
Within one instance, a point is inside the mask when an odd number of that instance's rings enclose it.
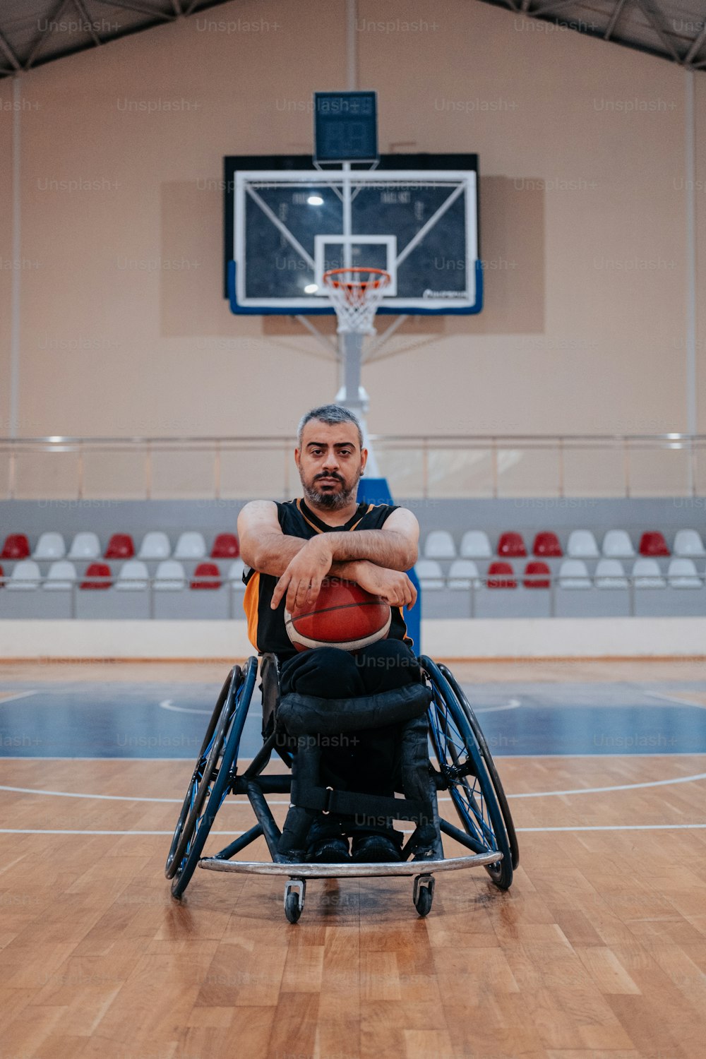
<path fill-rule="evenodd" d="M 304 496 L 309 503 L 329 510 L 346 507 L 356 497 L 367 450 L 361 451 L 352 423 L 309 419 L 302 448 L 294 450 Z"/>

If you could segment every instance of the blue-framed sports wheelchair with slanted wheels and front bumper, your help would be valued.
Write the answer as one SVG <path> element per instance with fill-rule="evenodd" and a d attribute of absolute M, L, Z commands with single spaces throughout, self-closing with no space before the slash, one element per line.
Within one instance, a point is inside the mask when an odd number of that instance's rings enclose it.
<path fill-rule="evenodd" d="M 238 748 L 257 680 L 258 661 L 263 746 L 252 760 L 240 766 Z M 297 786 L 293 768 L 295 765 L 298 768 L 295 755 L 302 752 L 291 735 L 283 738 L 278 722 L 280 705 L 291 696 L 280 703 L 276 657 L 267 653 L 259 660 L 251 657 L 245 666 L 234 666 L 213 711 L 175 828 L 165 867 L 166 878 L 171 880 L 173 896 L 181 898 L 197 867 L 285 877 L 285 914 L 289 922 L 295 923 L 304 908 L 309 879 L 410 876 L 414 879 L 413 902 L 420 916 L 431 910 L 437 873 L 483 866 L 495 886 L 507 890 L 520 861 L 518 838 L 481 725 L 449 668 L 423 654 L 417 662 L 429 702 L 421 715 L 423 773 L 428 786 L 421 797 L 427 807 L 426 816 L 420 810 L 419 798 L 410 798 L 406 790 L 404 797 L 384 800 L 339 792 L 321 785 L 316 787 L 314 783 L 306 790 L 313 791 L 316 796 L 312 802 L 310 793 L 307 801 L 298 792 L 298 787 L 305 788 L 302 783 Z M 338 700 L 314 701 L 326 701 L 327 706 L 334 710 Z M 365 700 L 360 701 L 364 703 Z M 284 772 L 265 771 L 273 753 L 286 767 Z M 397 790 L 398 785 L 395 786 Z M 447 793 L 445 801 L 453 806 L 456 823 L 439 814 L 437 795 L 440 792 Z M 255 823 L 219 852 L 202 857 L 213 822 L 229 794 L 248 800 Z M 310 823 L 314 811 L 350 814 L 362 805 L 365 810 L 377 807 L 388 819 L 411 821 L 416 826 L 401 849 L 399 862 L 308 863 L 303 849 L 283 849 L 283 833 L 288 823 L 280 830 L 275 822 L 267 801 L 272 794 L 290 795 L 287 821 L 293 813 L 300 824 L 305 818 Z M 431 833 L 432 838 L 428 838 L 420 854 L 417 840 L 424 827 L 427 836 Z M 442 836 L 453 839 L 469 854 L 446 857 Z M 260 837 L 265 838 L 271 862 L 233 859 Z"/>

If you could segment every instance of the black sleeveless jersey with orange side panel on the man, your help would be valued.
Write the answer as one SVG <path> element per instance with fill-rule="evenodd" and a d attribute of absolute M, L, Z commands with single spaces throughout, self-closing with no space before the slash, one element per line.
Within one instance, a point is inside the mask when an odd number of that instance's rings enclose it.
<path fill-rule="evenodd" d="M 304 500 L 289 500 L 287 503 L 277 503 L 277 519 L 286 537 L 309 540 L 318 533 L 381 530 L 385 519 L 394 510 L 397 510 L 397 506 L 393 504 L 363 503 L 358 505 L 356 514 L 344 525 L 329 526 L 307 507 Z M 242 579 L 247 586 L 242 605 L 248 618 L 248 638 L 253 647 L 260 652 L 273 651 L 280 658 L 295 654 L 295 648 L 285 628 L 285 599 L 279 600 L 276 610 L 270 607 L 277 578 L 273 574 L 261 574 L 249 569 Z M 401 607 L 392 608 L 387 639 L 403 640 L 412 647 Z"/>

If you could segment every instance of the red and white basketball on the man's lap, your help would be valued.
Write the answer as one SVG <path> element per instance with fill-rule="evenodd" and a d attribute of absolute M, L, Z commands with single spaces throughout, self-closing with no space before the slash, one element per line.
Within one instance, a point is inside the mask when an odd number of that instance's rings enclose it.
<path fill-rule="evenodd" d="M 338 647 L 357 651 L 387 635 L 390 604 L 354 581 L 326 578 L 313 606 L 305 604 L 290 614 L 285 610 L 287 633 L 297 651 Z"/>

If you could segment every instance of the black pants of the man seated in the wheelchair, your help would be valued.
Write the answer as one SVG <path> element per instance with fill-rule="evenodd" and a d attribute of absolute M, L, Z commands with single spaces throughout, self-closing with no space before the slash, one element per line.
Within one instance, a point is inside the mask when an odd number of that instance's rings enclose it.
<path fill-rule="evenodd" d="M 379 640 L 355 653 L 336 647 L 316 647 L 288 659 L 282 666 L 280 695 L 297 692 L 322 699 L 359 698 L 418 684 L 421 671 L 413 651 L 401 640 Z M 399 747 L 399 724 L 345 732 L 337 744 L 322 748 L 321 780 L 339 790 L 360 791 L 392 797 Z M 332 740 L 331 740 L 332 743 Z M 309 842 L 347 832 L 386 834 L 401 844 L 392 822 L 320 816 L 309 832 Z"/>

